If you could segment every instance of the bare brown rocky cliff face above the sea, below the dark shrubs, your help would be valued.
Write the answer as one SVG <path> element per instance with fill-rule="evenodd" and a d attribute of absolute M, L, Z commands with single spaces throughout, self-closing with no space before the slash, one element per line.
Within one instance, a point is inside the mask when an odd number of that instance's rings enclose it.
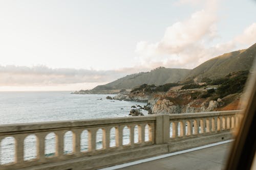
<path fill-rule="evenodd" d="M 238 109 L 241 93 L 228 95 L 223 99 L 202 98 L 207 90 L 169 90 L 166 93 L 135 91 L 129 94 L 131 100 L 147 101 L 144 107 L 148 114 L 175 114 L 209 112 Z"/>

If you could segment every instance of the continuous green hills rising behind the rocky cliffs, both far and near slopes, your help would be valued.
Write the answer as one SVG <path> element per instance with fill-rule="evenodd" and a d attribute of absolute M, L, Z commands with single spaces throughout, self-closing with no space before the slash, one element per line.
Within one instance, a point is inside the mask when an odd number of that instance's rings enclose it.
<path fill-rule="evenodd" d="M 142 84 L 160 86 L 168 83 L 200 83 L 205 79 L 224 78 L 230 72 L 240 70 L 250 70 L 253 60 L 256 56 L 256 43 L 245 50 L 225 53 L 221 56 L 212 58 L 194 69 L 165 68 L 158 67 L 148 72 L 139 72 L 137 74 L 127 75 L 111 83 L 96 86 L 92 90 L 80 90 L 74 93 L 119 93 L 126 89 L 129 92 Z M 170 84 L 165 86 L 168 87 Z M 153 87 L 152 86 L 152 87 Z"/>

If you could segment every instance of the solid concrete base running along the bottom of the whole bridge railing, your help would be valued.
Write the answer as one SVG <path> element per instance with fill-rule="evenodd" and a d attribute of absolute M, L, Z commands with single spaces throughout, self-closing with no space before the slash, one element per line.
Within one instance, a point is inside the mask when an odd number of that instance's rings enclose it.
<path fill-rule="evenodd" d="M 140 148 L 131 148 L 125 151 L 115 151 L 108 154 L 86 156 L 83 158 L 70 159 L 55 163 L 41 164 L 38 166 L 31 166 L 21 168 L 20 170 L 88 170 L 98 169 L 116 164 L 122 164 L 139 159 L 153 157 L 161 154 L 182 151 L 190 148 L 199 147 L 205 144 L 215 143 L 231 139 L 230 132 L 222 132 L 211 135 L 204 135 L 200 137 L 191 137 L 182 140 L 172 140 L 167 144 L 155 144 Z M 171 140 L 171 139 L 170 139 Z"/>

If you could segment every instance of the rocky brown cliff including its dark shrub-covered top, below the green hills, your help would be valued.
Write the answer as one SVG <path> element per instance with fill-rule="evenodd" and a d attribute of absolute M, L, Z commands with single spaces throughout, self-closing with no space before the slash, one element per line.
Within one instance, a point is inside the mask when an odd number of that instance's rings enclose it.
<path fill-rule="evenodd" d="M 129 98 L 147 101 L 144 109 L 149 114 L 237 110 L 248 74 L 248 70 L 230 72 L 225 78 L 209 79 L 202 85 L 168 84 L 156 87 L 144 84 L 133 89 Z"/>

